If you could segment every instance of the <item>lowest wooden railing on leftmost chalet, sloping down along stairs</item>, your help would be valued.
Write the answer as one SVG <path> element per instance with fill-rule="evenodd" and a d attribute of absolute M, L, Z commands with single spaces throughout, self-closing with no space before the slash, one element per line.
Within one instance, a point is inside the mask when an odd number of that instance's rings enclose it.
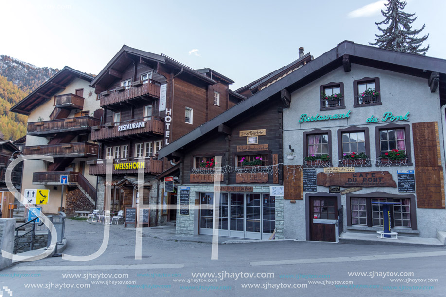
<path fill-rule="evenodd" d="M 68 184 L 77 185 L 96 201 L 96 188 L 80 172 L 75 171 L 43 171 L 33 173 L 33 183 L 55 185 L 60 183 L 60 175 L 68 175 Z"/>

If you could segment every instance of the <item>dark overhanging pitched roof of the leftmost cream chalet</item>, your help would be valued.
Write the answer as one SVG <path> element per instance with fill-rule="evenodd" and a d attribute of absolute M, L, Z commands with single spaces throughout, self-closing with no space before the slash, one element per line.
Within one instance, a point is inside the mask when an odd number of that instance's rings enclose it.
<path fill-rule="evenodd" d="M 29 115 L 36 107 L 49 100 L 49 97 L 57 94 L 62 89 L 60 86 L 68 86 L 74 78 L 81 78 L 88 82 L 93 80 L 93 76 L 65 66 L 62 70 L 37 87 L 31 94 L 11 107 L 10 111 Z"/>

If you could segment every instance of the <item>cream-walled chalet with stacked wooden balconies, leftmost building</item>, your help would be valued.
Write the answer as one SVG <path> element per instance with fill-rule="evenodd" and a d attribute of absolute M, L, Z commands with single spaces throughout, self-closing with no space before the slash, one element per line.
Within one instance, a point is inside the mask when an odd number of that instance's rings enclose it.
<path fill-rule="evenodd" d="M 26 198 L 25 189 L 50 191 L 47 204 L 34 203 L 44 213 L 57 213 L 61 199 L 65 208 L 70 203 L 67 193 L 76 188 L 84 201 L 78 210 L 96 203 L 97 178 L 89 175 L 87 161 L 98 156 L 99 145 L 91 141 L 90 133 L 100 124 L 103 111 L 94 88 L 89 87 L 92 80 L 93 76 L 66 66 L 11 108 L 28 116 L 23 154 L 54 158 L 53 163 L 25 160 L 23 164 L 22 195 Z M 61 175 L 68 176 L 64 192 Z"/>

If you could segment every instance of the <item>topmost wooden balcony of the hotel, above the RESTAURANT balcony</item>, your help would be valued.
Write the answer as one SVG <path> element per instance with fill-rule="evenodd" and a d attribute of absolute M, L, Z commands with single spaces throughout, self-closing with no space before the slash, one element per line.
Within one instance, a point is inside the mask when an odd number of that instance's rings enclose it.
<path fill-rule="evenodd" d="M 160 84 L 150 80 L 148 83 L 141 84 L 127 89 L 116 89 L 112 92 L 105 91 L 101 93 L 101 107 L 118 104 L 130 99 L 148 95 L 154 98 L 160 98 Z"/>

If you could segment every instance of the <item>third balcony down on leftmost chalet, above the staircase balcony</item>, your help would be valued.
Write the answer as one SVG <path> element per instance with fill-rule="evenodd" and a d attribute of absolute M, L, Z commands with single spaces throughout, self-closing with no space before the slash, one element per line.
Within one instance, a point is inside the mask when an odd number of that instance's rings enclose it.
<path fill-rule="evenodd" d="M 25 146 L 23 149 L 25 155 L 48 155 L 55 158 L 97 157 L 98 152 L 99 145 L 89 142 Z"/>

